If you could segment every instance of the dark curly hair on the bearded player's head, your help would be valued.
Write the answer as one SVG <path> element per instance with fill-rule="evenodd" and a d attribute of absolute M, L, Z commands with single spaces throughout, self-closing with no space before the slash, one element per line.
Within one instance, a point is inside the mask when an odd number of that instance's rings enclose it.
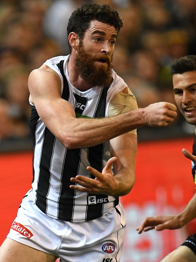
<path fill-rule="evenodd" d="M 118 33 L 123 25 L 118 12 L 110 8 L 109 5 L 83 4 L 71 14 L 67 26 L 67 35 L 69 36 L 71 32 L 75 32 L 80 39 L 83 39 L 84 33 L 89 28 L 92 20 L 113 25 Z M 69 49 L 71 51 L 70 45 Z"/>

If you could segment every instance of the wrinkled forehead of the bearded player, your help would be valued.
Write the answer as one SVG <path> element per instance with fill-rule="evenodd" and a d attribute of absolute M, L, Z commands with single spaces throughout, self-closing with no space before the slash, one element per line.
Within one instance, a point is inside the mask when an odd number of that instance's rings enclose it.
<path fill-rule="evenodd" d="M 90 21 L 89 28 L 87 29 L 87 31 L 89 33 L 93 33 L 97 30 L 103 31 L 108 34 L 115 34 L 117 36 L 117 31 L 113 25 L 109 25 L 97 20 Z"/>

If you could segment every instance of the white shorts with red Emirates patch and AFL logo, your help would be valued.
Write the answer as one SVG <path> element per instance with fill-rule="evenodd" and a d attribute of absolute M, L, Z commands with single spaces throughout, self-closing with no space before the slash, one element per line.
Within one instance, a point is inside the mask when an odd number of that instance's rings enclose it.
<path fill-rule="evenodd" d="M 23 199 L 7 237 L 60 257 L 61 262 L 119 262 L 125 212 L 116 206 L 103 217 L 87 222 L 66 222 L 44 214 L 32 191 Z"/>

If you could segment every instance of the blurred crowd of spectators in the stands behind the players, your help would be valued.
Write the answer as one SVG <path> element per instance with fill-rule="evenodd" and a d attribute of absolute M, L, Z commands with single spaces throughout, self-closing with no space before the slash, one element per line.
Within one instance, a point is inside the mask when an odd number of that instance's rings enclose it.
<path fill-rule="evenodd" d="M 174 102 L 170 64 L 196 55 L 195 0 L 10 0 L 0 1 L 0 141 L 30 136 L 27 88 L 31 70 L 47 59 L 66 55 L 67 21 L 83 3 L 109 4 L 123 18 L 114 70 L 145 107 Z M 142 128 L 138 138 L 192 133 L 178 114 L 170 127 Z"/>

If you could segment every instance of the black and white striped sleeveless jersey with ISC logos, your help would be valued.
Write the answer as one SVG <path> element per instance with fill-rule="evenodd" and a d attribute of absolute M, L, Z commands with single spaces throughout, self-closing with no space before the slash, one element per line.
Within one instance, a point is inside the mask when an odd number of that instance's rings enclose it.
<path fill-rule="evenodd" d="M 69 56 L 59 56 L 45 62 L 62 80 L 62 98 L 71 103 L 76 117 L 107 117 L 109 101 L 126 87 L 125 82 L 113 71 L 113 82 L 109 87 L 92 87 L 81 92 L 69 80 L 68 59 Z M 32 188 L 38 208 L 64 221 L 92 220 L 114 208 L 119 203 L 117 197 L 91 195 L 69 188 L 71 177 L 83 175 L 93 178 L 86 170 L 89 165 L 102 172 L 110 158 L 109 141 L 87 148 L 67 149 L 45 126 L 32 103 L 31 107 Z"/>

